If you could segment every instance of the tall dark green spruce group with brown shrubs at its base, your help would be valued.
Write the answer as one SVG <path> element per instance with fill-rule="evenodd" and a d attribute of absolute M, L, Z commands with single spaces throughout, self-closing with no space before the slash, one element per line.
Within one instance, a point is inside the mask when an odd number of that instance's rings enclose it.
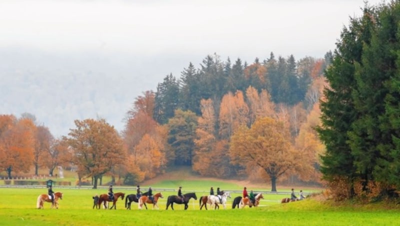
<path fill-rule="evenodd" d="M 337 199 L 398 197 L 400 2 L 365 5 L 343 28 L 318 128 L 325 180 Z"/>

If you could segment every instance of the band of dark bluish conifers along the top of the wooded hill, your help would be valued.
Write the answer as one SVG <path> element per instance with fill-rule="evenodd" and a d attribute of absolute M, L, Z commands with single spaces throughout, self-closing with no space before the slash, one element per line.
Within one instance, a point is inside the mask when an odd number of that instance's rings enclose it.
<path fill-rule="evenodd" d="M 245 92 L 249 86 L 258 92 L 266 90 L 276 104 L 303 102 L 312 105 L 314 102 L 307 100 L 306 92 L 313 79 L 330 63 L 331 57 L 330 51 L 321 59 L 303 57 L 299 60 L 293 55 L 276 57 L 271 52 L 268 58 L 255 58 L 248 64 L 240 58 L 222 61 L 216 54 L 207 55 L 200 68 L 190 62 L 180 76 L 169 74 L 158 83 L 154 118 L 159 123 L 166 123 L 177 108 L 200 115 L 200 99 L 210 98 L 218 104 L 228 92 Z"/>

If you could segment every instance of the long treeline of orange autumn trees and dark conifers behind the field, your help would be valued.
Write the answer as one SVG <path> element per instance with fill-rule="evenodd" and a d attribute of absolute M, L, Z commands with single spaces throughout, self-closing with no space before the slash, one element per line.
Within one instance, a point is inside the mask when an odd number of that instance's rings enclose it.
<path fill-rule="evenodd" d="M 54 138 L 34 115 L 1 115 L 0 167 L 8 176 L 32 166 L 52 175 L 61 165 L 76 169 L 79 180 L 91 178 L 93 187 L 103 175 L 134 184 L 179 165 L 201 175 L 270 180 L 272 190 L 288 176 L 318 181 L 324 147 L 312 127 L 331 57 L 296 61 L 271 52 L 232 64 L 208 55 L 200 68 L 189 63 L 179 78 L 169 74 L 156 91 L 136 97 L 120 132 L 88 118 Z"/>

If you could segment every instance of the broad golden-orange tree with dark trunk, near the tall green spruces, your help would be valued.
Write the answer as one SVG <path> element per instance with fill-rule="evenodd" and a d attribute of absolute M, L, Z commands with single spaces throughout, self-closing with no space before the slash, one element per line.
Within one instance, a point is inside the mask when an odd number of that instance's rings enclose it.
<path fill-rule="evenodd" d="M 276 191 L 276 179 L 298 167 L 297 153 L 289 137 L 282 122 L 270 117 L 258 118 L 250 128 L 241 126 L 232 135 L 231 161 L 247 170 L 260 167 L 271 181 L 271 191 Z"/>

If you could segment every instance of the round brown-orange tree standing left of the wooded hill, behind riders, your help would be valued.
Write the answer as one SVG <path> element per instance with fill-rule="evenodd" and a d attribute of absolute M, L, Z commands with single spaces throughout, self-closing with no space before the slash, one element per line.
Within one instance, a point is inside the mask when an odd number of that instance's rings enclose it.
<path fill-rule="evenodd" d="M 104 119 L 75 120 L 76 128 L 68 133 L 68 144 L 74 150 L 73 161 L 80 172 L 94 178 L 97 188 L 100 176 L 122 163 L 126 150 L 115 128 Z"/>

